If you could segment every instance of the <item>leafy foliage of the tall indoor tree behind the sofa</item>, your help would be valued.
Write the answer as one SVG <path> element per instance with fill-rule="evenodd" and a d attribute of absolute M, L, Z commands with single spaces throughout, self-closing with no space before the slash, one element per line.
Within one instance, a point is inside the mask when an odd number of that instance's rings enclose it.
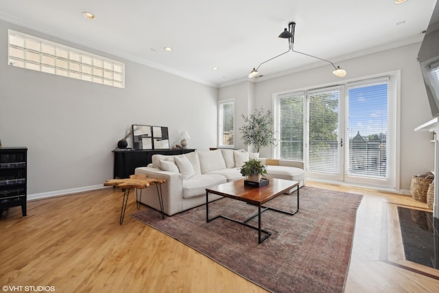
<path fill-rule="evenodd" d="M 245 145 L 253 145 L 256 152 L 268 145 L 276 145 L 274 138 L 274 120 L 270 110 L 265 113 L 263 107 L 254 108 L 248 117 L 242 115 L 244 125 L 239 128 Z"/>

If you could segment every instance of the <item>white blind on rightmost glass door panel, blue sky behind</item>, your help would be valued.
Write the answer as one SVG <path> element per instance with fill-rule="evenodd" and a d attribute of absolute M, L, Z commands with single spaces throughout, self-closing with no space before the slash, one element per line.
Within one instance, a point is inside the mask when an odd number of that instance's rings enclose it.
<path fill-rule="evenodd" d="M 348 175 L 388 178 L 388 83 L 379 78 L 346 86 Z"/>

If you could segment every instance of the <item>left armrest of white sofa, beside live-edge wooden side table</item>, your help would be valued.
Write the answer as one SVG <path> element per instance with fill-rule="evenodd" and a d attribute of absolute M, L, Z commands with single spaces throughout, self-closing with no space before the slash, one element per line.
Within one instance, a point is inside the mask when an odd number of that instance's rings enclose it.
<path fill-rule="evenodd" d="M 138 167 L 134 174 L 146 174 L 151 178 L 165 179 L 166 183 L 161 185 L 163 197 L 163 211 L 167 215 L 173 215 L 182 211 L 183 205 L 183 185 L 180 173 L 167 172 L 154 167 Z M 160 211 L 158 202 L 157 188 L 154 186 L 143 189 L 141 202 Z"/>

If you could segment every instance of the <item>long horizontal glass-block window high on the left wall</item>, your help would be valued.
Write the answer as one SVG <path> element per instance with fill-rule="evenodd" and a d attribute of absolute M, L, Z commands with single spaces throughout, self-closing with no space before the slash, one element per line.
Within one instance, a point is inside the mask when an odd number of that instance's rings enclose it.
<path fill-rule="evenodd" d="M 115 60 L 9 30 L 9 65 L 125 87 L 125 65 Z"/>

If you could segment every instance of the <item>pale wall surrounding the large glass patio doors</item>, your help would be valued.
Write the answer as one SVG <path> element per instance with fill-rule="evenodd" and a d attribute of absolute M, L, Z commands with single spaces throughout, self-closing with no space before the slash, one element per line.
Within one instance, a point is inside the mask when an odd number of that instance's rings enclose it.
<path fill-rule="evenodd" d="M 429 142 L 431 134 L 414 132 L 416 126 L 431 119 L 427 94 L 416 60 L 419 47 L 420 43 L 417 43 L 337 62 L 337 65 L 348 71 L 348 75 L 343 80 L 401 70 L 401 153 L 399 160 L 401 189 L 405 190 L 410 189 L 412 175 L 431 170 L 434 166 L 434 145 Z M 322 86 L 340 80 L 331 74 L 331 71 L 330 66 L 324 66 L 257 82 L 254 93 L 255 106 L 265 106 L 271 110 L 273 93 Z M 221 91 L 226 91 L 226 89 L 221 89 Z M 232 94 L 229 93 L 229 95 Z M 261 150 L 261 156 L 271 155 L 270 148 Z"/>

